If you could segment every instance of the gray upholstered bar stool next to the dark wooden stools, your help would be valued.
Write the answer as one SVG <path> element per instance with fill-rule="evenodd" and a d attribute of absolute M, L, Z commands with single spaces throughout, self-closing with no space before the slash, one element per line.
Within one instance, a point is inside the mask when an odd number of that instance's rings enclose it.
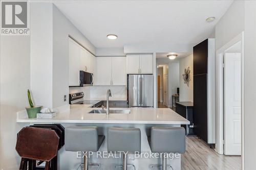
<path fill-rule="evenodd" d="M 67 127 L 65 129 L 65 149 L 66 151 L 83 151 L 83 169 L 88 170 L 89 165 L 99 164 L 88 163 L 88 151 L 97 152 L 103 143 L 105 136 L 98 135 L 98 127 Z M 80 166 L 79 166 L 80 167 Z M 78 167 L 78 168 L 79 168 Z"/>

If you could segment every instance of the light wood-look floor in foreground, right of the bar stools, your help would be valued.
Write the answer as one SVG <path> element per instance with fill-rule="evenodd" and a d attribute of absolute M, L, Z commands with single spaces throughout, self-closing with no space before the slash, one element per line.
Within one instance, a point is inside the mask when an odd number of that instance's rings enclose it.
<path fill-rule="evenodd" d="M 186 137 L 181 170 L 240 170 L 241 156 L 219 155 L 196 136 Z"/>

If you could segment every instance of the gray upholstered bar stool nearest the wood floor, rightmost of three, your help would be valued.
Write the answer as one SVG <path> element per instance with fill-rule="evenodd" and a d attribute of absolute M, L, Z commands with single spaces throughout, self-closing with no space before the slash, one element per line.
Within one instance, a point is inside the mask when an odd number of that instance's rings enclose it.
<path fill-rule="evenodd" d="M 163 170 L 166 167 L 166 153 L 183 154 L 186 151 L 185 145 L 185 129 L 183 127 L 152 127 L 151 136 L 148 137 L 148 143 L 153 153 L 159 153 L 162 156 L 162 165 L 153 165 L 153 167 L 162 166 Z"/>

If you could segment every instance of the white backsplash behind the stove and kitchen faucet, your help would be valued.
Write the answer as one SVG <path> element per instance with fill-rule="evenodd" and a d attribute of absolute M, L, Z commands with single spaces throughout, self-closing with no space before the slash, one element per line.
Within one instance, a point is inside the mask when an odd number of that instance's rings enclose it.
<path fill-rule="evenodd" d="M 70 87 L 69 93 L 84 92 L 84 100 L 105 99 L 106 91 L 110 89 L 112 98 L 125 99 L 126 86 L 89 86 L 89 87 Z"/>

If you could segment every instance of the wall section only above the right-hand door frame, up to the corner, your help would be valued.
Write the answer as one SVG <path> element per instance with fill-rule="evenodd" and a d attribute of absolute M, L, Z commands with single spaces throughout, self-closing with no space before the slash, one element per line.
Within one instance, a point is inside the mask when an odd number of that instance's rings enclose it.
<path fill-rule="evenodd" d="M 245 1 L 234 1 L 215 29 L 216 50 L 244 31 Z"/>

